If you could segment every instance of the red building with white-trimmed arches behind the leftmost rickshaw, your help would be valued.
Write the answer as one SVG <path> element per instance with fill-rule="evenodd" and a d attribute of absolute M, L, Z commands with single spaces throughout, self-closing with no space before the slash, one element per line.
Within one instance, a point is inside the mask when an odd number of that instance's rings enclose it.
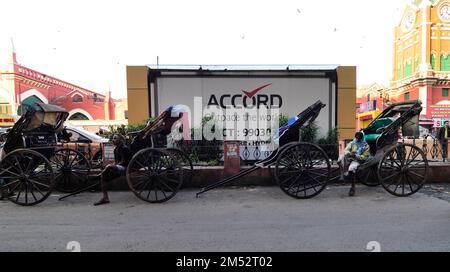
<path fill-rule="evenodd" d="M 12 52 L 0 71 L 0 114 L 20 115 L 24 105 L 44 102 L 65 108 L 69 120 L 114 120 L 110 92 L 99 94 L 17 63 Z M 9 106 L 9 107 L 8 107 Z"/>

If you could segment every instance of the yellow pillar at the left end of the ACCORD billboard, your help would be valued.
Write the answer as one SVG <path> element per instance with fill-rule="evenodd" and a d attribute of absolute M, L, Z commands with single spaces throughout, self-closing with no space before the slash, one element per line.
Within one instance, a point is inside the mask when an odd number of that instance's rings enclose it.
<path fill-rule="evenodd" d="M 127 66 L 128 124 L 145 122 L 149 114 L 147 66 Z"/>

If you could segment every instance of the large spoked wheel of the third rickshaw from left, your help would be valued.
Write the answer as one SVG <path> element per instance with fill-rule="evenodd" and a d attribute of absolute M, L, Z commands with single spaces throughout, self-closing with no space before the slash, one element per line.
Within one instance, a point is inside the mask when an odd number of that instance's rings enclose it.
<path fill-rule="evenodd" d="M 320 194 L 331 176 L 331 164 L 322 148 L 311 143 L 297 143 L 279 155 L 275 179 L 287 195 L 307 199 Z"/>

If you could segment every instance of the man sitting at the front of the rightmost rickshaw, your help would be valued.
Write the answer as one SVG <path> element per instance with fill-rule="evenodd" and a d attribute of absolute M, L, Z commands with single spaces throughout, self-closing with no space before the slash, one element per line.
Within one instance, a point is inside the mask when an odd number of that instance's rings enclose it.
<path fill-rule="evenodd" d="M 359 165 L 364 163 L 370 156 L 370 147 L 364 139 L 364 133 L 356 132 L 355 139 L 345 148 L 344 155 L 338 160 L 341 170 L 341 179 L 345 177 L 351 180 L 352 187 L 348 193 L 349 196 L 355 195 L 355 173 Z"/>

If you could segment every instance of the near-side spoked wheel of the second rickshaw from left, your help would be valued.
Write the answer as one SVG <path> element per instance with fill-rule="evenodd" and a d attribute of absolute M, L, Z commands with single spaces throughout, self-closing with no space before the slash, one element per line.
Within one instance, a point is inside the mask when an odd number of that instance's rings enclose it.
<path fill-rule="evenodd" d="M 133 193 L 150 203 L 165 202 L 183 184 L 183 167 L 171 153 L 154 148 L 139 151 L 127 167 L 127 182 Z"/>

